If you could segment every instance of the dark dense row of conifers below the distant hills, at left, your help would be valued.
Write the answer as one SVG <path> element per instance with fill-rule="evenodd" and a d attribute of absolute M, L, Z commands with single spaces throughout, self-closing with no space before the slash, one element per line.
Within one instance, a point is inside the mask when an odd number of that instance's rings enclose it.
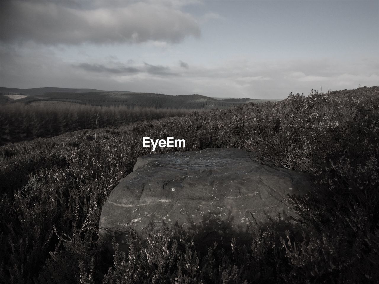
<path fill-rule="evenodd" d="M 0 105 L 0 145 L 81 129 L 183 116 L 189 112 L 188 109 L 91 106 L 63 102 Z"/>

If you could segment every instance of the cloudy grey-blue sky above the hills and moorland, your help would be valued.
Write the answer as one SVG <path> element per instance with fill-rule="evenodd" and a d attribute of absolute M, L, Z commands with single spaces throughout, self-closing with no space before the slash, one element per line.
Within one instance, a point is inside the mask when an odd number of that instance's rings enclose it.
<path fill-rule="evenodd" d="M 379 1 L 2 0 L 0 86 L 210 97 L 379 85 Z"/>

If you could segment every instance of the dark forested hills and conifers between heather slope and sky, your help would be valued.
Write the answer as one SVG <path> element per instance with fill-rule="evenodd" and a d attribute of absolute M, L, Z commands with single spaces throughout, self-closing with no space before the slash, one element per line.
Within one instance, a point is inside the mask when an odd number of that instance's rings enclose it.
<path fill-rule="evenodd" d="M 92 89 L 0 87 L 0 146 L 75 130 L 121 126 L 183 116 L 194 110 L 231 108 L 241 103 L 265 101 Z"/>

